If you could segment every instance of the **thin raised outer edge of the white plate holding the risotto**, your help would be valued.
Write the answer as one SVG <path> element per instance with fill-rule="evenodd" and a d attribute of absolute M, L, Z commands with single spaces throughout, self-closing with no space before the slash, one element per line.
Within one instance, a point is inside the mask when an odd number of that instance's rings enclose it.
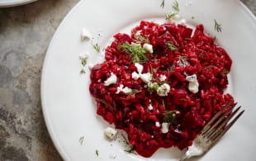
<path fill-rule="evenodd" d="M 32 1 L 36 1 L 36 0 L 32 0 Z M 44 97 L 44 95 L 45 95 L 45 93 L 44 93 L 45 69 L 46 69 L 46 65 L 47 65 L 47 62 L 48 62 L 48 58 L 49 58 L 49 51 L 52 48 L 53 42 L 55 41 L 56 36 L 59 33 L 59 28 L 64 26 L 65 21 L 67 21 L 67 19 L 73 14 L 73 12 L 76 10 L 76 8 L 78 8 L 79 5 L 83 1 L 87 1 L 87 0 L 81 0 L 77 4 L 75 4 L 75 6 L 67 13 L 67 15 L 64 17 L 64 19 L 60 22 L 58 28 L 55 31 L 55 34 L 52 36 L 52 39 L 50 40 L 50 45 L 48 46 L 48 48 L 46 50 L 46 53 L 45 53 L 45 59 L 44 59 L 44 62 L 43 62 L 43 67 L 42 67 L 42 72 L 41 72 L 41 79 L 40 79 L 40 99 L 41 99 L 41 107 L 42 107 L 42 113 L 43 113 L 45 125 L 46 125 L 46 128 L 47 128 L 47 130 L 50 134 L 50 139 L 52 140 L 53 144 L 55 145 L 55 148 L 57 149 L 59 155 L 64 160 L 70 160 L 69 156 L 68 156 L 68 154 L 65 153 L 63 147 L 59 144 L 59 139 L 55 135 L 54 128 L 52 127 L 52 125 L 50 123 L 50 117 L 47 116 L 47 107 L 45 106 L 45 97 Z M 241 2 L 240 0 L 237 0 L 237 2 L 239 2 L 240 7 L 244 10 L 244 12 L 246 12 L 246 14 L 254 22 L 254 25 L 256 25 L 256 16 L 254 16 L 254 13 L 249 9 L 249 7 L 245 6 L 244 2 Z"/>

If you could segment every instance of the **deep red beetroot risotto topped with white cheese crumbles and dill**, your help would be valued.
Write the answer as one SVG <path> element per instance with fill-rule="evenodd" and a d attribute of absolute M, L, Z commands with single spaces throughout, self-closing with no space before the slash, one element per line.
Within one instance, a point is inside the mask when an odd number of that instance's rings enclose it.
<path fill-rule="evenodd" d="M 102 64 L 92 68 L 97 114 L 125 130 L 135 151 L 150 157 L 163 147 L 184 149 L 221 107 L 230 56 L 198 25 L 141 21 L 118 33 Z"/>

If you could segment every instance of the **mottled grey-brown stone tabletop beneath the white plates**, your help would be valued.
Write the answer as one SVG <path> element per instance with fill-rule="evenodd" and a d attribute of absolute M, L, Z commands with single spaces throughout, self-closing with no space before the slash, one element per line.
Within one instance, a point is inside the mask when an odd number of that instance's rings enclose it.
<path fill-rule="evenodd" d="M 256 14 L 255 0 L 242 0 Z M 0 161 L 62 160 L 40 105 L 45 51 L 78 0 L 40 0 L 0 8 Z"/>

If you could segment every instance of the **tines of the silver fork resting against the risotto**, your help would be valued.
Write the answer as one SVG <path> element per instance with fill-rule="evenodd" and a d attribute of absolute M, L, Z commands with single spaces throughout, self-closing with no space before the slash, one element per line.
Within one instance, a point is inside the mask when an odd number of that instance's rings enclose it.
<path fill-rule="evenodd" d="M 230 107 L 230 105 L 231 102 L 228 102 L 225 107 L 223 107 L 219 112 L 216 113 L 215 116 L 211 118 L 211 120 L 205 125 L 204 129 L 201 130 L 201 136 L 206 138 L 209 142 L 214 143 L 219 140 L 244 113 L 244 110 L 239 111 L 241 107 L 235 108 L 237 103 L 235 103 L 232 107 Z M 230 109 L 228 109 L 228 107 L 230 107 Z M 235 110 L 233 111 L 234 108 Z M 228 110 L 225 111 L 226 109 Z M 235 118 L 231 121 L 234 116 Z"/>

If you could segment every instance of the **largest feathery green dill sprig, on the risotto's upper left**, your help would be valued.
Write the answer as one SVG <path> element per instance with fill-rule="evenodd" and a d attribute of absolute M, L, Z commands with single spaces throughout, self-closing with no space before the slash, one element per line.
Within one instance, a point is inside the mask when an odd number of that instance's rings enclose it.
<path fill-rule="evenodd" d="M 133 63 L 144 63 L 148 60 L 145 55 L 147 53 L 146 50 L 140 45 L 129 44 L 126 42 L 125 44 L 119 45 L 118 50 L 129 52 Z"/>

